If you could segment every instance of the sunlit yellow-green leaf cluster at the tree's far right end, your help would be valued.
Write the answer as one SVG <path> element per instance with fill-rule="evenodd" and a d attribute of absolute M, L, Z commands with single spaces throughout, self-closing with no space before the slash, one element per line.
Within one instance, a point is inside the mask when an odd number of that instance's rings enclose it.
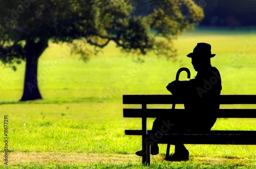
<path fill-rule="evenodd" d="M 191 0 L 162 0 L 152 3 L 160 6 L 145 17 L 150 29 L 156 32 L 152 49 L 159 57 L 175 60 L 177 50 L 173 39 L 187 29 L 194 29 L 204 17 L 203 10 Z"/>

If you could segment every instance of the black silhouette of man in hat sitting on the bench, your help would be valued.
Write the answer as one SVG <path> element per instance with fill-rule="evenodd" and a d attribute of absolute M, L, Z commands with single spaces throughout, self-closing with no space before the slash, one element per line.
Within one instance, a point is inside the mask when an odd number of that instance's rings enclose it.
<path fill-rule="evenodd" d="M 222 90 L 221 76 L 216 67 L 210 64 L 211 46 L 207 43 L 198 43 L 193 53 L 187 54 L 191 58 L 197 75 L 194 79 L 186 81 L 175 80 L 167 85 L 167 90 L 176 98 L 184 100 L 186 116 L 175 118 L 156 118 L 152 130 L 161 131 L 163 125 L 169 124 L 169 131 L 208 131 L 214 126 L 216 112 L 220 108 L 219 96 Z M 142 156 L 143 151 L 136 152 Z M 151 154 L 159 153 L 157 143 L 151 144 Z M 175 144 L 175 153 L 166 157 L 169 161 L 188 160 L 189 152 L 182 143 Z"/>

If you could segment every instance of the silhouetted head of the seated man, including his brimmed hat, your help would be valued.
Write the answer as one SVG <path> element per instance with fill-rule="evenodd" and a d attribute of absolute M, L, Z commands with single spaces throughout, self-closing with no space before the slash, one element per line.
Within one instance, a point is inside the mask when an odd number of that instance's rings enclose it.
<path fill-rule="evenodd" d="M 198 43 L 193 53 L 187 54 L 192 59 L 192 64 L 196 71 L 203 71 L 210 66 L 210 58 L 216 54 L 211 54 L 211 46 L 208 43 Z"/>

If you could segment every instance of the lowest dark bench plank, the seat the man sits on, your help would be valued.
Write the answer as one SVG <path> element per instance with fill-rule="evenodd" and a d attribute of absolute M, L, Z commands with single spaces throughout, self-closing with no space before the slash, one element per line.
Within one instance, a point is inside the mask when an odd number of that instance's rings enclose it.
<path fill-rule="evenodd" d="M 140 135 L 142 130 L 125 130 L 126 135 Z M 256 131 L 220 131 L 206 132 L 184 131 L 170 134 L 154 134 L 148 130 L 147 143 L 159 144 L 210 144 L 210 145 L 256 145 Z M 160 139 L 161 138 L 161 139 Z"/>

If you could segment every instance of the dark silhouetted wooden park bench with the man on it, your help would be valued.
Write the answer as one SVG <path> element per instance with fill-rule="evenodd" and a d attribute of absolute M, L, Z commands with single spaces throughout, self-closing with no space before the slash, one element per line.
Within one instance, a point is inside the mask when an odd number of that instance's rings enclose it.
<path fill-rule="evenodd" d="M 142 164 L 150 165 L 150 146 L 167 144 L 166 156 L 169 156 L 170 145 L 177 142 L 183 144 L 209 145 L 256 145 L 256 131 L 211 130 L 211 131 L 182 131 L 165 133 L 147 130 L 147 118 L 172 117 L 185 114 L 185 109 L 147 108 L 148 104 L 184 104 L 175 100 L 173 95 L 123 95 L 123 104 L 137 104 L 141 108 L 123 108 L 124 118 L 141 118 L 141 130 L 125 130 L 126 135 L 142 136 Z M 221 95 L 220 104 L 256 104 L 256 95 Z M 185 115 L 184 115 L 185 116 Z M 220 109 L 218 118 L 256 118 L 254 109 Z"/>

